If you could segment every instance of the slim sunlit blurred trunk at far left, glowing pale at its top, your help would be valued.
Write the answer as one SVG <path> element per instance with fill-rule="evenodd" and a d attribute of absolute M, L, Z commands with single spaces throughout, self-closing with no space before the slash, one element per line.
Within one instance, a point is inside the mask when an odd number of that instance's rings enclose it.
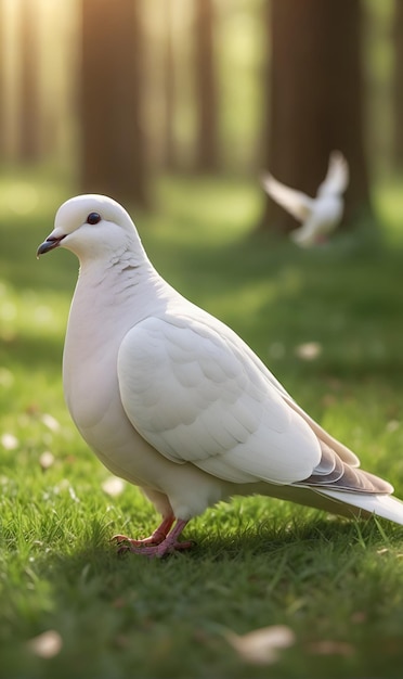
<path fill-rule="evenodd" d="M 20 5 L 21 80 L 18 105 L 18 159 L 31 163 L 40 155 L 39 88 L 38 88 L 38 35 L 36 8 L 31 0 Z"/>

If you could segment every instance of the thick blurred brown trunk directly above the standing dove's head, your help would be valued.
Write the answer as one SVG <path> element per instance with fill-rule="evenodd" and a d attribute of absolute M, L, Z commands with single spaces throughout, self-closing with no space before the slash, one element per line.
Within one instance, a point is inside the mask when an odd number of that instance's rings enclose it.
<path fill-rule="evenodd" d="M 140 0 L 82 0 L 81 190 L 146 203 Z"/>

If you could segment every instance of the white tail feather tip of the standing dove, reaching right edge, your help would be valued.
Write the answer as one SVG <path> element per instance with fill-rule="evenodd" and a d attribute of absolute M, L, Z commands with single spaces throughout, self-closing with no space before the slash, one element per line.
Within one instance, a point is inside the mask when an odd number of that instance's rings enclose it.
<path fill-rule="evenodd" d="M 340 511 L 335 509 L 330 509 L 330 511 L 346 515 L 344 509 L 347 509 L 350 515 L 354 516 L 375 514 L 403 526 L 403 502 L 390 495 L 353 494 L 327 489 L 321 489 L 320 492 L 323 498 L 328 498 L 332 502 L 336 501 L 344 505 L 342 508 L 340 505 Z"/>

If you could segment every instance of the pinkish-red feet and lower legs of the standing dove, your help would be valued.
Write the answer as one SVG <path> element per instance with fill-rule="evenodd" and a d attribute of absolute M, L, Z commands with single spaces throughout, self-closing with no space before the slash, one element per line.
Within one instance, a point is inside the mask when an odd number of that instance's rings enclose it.
<path fill-rule="evenodd" d="M 118 553 L 133 552 L 134 554 L 144 554 L 145 556 L 165 556 L 177 550 L 188 549 L 193 546 L 191 540 L 179 542 L 178 537 L 185 527 L 187 521 L 178 520 L 177 524 L 170 530 L 173 524 L 173 516 L 165 518 L 156 530 L 142 540 L 133 540 L 126 535 L 114 535 L 112 538 L 118 546 Z"/>

